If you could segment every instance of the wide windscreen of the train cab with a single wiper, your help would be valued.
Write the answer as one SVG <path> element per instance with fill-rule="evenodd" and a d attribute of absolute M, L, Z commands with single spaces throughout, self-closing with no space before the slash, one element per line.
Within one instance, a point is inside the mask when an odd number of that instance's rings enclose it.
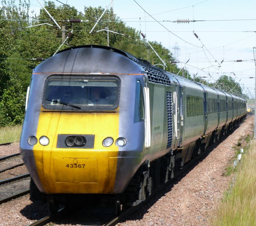
<path fill-rule="evenodd" d="M 120 81 L 113 77 L 50 77 L 44 87 L 46 109 L 113 109 L 118 105 Z"/>

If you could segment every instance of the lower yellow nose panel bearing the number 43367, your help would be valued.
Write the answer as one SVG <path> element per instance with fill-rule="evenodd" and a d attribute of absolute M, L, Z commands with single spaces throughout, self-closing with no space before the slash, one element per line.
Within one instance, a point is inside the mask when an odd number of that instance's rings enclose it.
<path fill-rule="evenodd" d="M 46 193 L 114 192 L 117 156 L 114 151 L 44 151 L 40 181 Z M 65 157 L 62 157 L 65 156 Z M 72 156 L 72 157 L 71 157 Z M 76 157 L 74 157 L 76 156 Z"/>

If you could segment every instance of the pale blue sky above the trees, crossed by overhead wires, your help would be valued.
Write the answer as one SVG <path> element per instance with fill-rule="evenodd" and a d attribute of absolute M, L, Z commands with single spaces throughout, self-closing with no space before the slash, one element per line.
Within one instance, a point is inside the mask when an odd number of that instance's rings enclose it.
<path fill-rule="evenodd" d="M 60 5 L 56 0 L 52 1 Z M 105 8 L 111 3 L 111 0 L 60 1 L 75 6 L 82 12 L 84 6 Z M 40 2 L 44 3 L 43 0 Z M 176 46 L 175 56 L 179 61 L 184 62 L 179 63 L 178 66 L 185 67 L 191 75 L 197 74 L 198 77 L 206 77 L 204 79 L 214 82 L 222 74 L 226 74 L 239 82 L 243 93 L 254 98 L 255 0 L 136 0 L 136 2 L 113 0 L 114 13 L 125 21 L 127 26 L 146 34 L 148 41 L 161 42 L 172 53 Z M 30 3 L 31 10 L 38 14 L 40 4 L 37 0 L 30 0 Z M 189 23 L 164 21 L 178 19 L 206 21 Z M 95 29 L 97 30 L 97 26 Z M 236 60 L 243 61 L 236 62 Z M 187 61 L 188 63 L 185 64 Z M 159 60 L 154 63 L 161 62 Z M 218 85 L 216 84 L 216 87 Z M 227 91 L 229 91 L 228 88 Z"/>

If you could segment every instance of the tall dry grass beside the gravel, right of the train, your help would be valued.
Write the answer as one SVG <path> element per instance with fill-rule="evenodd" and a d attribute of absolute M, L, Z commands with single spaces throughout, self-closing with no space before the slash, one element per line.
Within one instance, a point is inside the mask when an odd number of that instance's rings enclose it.
<path fill-rule="evenodd" d="M 256 140 L 245 138 L 242 160 L 218 210 L 212 225 L 256 225 Z"/>

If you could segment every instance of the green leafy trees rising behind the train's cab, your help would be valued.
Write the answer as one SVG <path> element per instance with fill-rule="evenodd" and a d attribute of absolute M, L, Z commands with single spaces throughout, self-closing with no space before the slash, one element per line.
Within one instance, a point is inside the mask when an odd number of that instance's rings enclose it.
<path fill-rule="evenodd" d="M 0 19 L 10 19 L 0 20 L 0 126 L 3 126 L 22 122 L 25 92 L 30 82 L 31 73 L 42 62 L 35 58 L 45 59 L 52 56 L 62 43 L 62 34 L 43 9 L 40 10 L 39 15 L 33 16 L 35 19 L 28 17 L 29 0 L 2 0 L 1 3 L 6 10 L 0 9 Z M 54 1 L 45 2 L 44 6 L 60 26 L 65 26 L 65 36 L 71 31 L 73 32 L 60 50 L 87 44 L 107 45 L 108 32 L 102 29 L 109 29 L 123 34 L 109 32 L 110 46 L 127 51 L 163 69 L 163 66 L 160 65 L 163 63 L 148 43 L 141 38 L 139 31 L 126 26 L 112 9 L 105 12 L 93 33 L 89 34 L 96 20 L 104 11 L 103 7 L 84 7 L 79 13 L 73 6 L 63 4 L 57 6 Z M 81 19 L 84 22 L 69 23 L 68 19 Z M 52 26 L 34 26 L 42 23 Z M 176 74 L 179 72 L 179 75 L 183 74 L 184 77 L 192 79 L 188 71 L 180 71 L 176 64 L 170 63 L 174 61 L 172 53 L 164 48 L 161 42 L 150 41 L 149 43 L 166 62 L 166 71 Z M 200 81 L 196 78 L 197 80 Z M 204 80 L 201 82 L 207 84 Z"/>

